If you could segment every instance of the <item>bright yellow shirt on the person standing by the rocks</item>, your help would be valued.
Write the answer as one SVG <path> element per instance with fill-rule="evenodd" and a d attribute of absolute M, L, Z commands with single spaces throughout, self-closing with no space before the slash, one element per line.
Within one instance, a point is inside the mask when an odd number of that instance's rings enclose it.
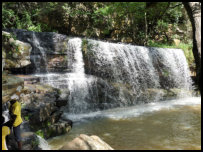
<path fill-rule="evenodd" d="M 11 107 L 12 108 L 12 114 L 17 116 L 15 121 L 14 121 L 14 123 L 13 123 L 13 127 L 17 127 L 17 126 L 19 126 L 23 122 L 23 120 L 21 118 L 21 105 L 20 105 L 19 102 L 16 101 L 11 106 L 12 106 Z"/>

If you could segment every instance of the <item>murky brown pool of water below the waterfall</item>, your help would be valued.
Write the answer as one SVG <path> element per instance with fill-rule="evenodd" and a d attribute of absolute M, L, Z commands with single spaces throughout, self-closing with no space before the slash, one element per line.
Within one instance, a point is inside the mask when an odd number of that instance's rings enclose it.
<path fill-rule="evenodd" d="M 114 149 L 201 149 L 201 104 L 162 107 L 134 117 L 108 116 L 78 121 L 70 133 L 48 142 L 52 149 L 59 149 L 79 134 L 87 134 L 99 136 Z"/>

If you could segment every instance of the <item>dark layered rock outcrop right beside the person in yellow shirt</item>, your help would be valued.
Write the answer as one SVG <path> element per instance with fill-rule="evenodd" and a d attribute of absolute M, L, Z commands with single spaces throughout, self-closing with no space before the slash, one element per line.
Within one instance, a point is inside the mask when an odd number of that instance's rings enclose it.
<path fill-rule="evenodd" d="M 20 77 L 26 80 L 25 95 L 21 98 L 22 117 L 27 122 L 24 127 L 46 139 L 70 131 L 72 121 L 61 120 L 61 107 L 67 104 L 60 96 L 61 91 L 49 85 L 33 84 L 36 77 Z"/>

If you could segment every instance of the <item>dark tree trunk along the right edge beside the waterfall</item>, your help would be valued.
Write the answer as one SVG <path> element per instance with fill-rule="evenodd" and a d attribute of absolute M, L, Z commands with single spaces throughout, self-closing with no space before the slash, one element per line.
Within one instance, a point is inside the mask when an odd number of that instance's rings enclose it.
<path fill-rule="evenodd" d="M 197 83 L 201 91 L 201 2 L 183 2 L 193 30 L 193 54 L 196 63 Z"/>

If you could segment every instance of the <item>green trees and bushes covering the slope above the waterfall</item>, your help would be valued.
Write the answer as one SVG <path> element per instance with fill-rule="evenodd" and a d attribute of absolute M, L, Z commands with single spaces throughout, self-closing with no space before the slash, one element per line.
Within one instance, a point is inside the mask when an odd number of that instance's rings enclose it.
<path fill-rule="evenodd" d="M 187 43 L 188 33 L 176 33 L 177 27 L 188 29 L 185 25 L 187 20 L 182 2 L 2 3 L 3 28 L 60 32 L 116 41 L 127 37 L 137 45 L 164 47 L 174 38 Z M 169 25 L 172 25 L 171 29 Z"/>

